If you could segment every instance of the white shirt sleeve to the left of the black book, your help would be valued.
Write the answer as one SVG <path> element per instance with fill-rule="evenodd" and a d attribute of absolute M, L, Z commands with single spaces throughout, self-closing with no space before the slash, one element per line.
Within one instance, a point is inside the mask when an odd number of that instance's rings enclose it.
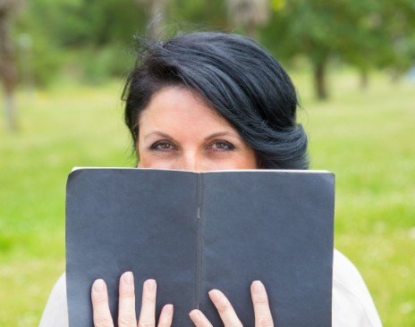
<path fill-rule="evenodd" d="M 39 327 L 69 327 L 68 306 L 66 303 L 66 278 L 63 273 L 56 281 L 47 299 Z"/>

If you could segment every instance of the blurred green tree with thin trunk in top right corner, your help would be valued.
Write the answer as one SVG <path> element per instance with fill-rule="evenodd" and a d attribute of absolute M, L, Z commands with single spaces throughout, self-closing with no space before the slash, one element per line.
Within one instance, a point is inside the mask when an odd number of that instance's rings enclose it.
<path fill-rule="evenodd" d="M 343 51 L 342 59 L 360 70 L 360 86 L 368 84 L 370 70 L 387 68 L 395 76 L 408 70 L 415 63 L 415 2 L 366 0 L 355 9 L 355 48 Z"/>

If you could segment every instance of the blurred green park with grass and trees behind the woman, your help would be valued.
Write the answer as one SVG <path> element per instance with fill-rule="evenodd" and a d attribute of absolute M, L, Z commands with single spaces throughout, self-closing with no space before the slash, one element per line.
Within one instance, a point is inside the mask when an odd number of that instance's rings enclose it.
<path fill-rule="evenodd" d="M 0 326 L 37 326 L 64 272 L 73 166 L 135 163 L 134 35 L 235 31 L 283 63 L 312 169 L 336 174 L 335 247 L 385 326 L 415 325 L 413 0 L 0 0 Z"/>

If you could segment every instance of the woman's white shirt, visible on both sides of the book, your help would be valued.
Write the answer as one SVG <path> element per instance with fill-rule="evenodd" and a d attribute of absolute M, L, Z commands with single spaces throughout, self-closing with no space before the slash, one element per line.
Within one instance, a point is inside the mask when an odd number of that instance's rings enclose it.
<path fill-rule="evenodd" d="M 63 274 L 47 300 L 39 327 L 68 327 L 66 281 Z M 333 327 L 381 327 L 377 309 L 360 272 L 335 250 L 333 263 Z"/>

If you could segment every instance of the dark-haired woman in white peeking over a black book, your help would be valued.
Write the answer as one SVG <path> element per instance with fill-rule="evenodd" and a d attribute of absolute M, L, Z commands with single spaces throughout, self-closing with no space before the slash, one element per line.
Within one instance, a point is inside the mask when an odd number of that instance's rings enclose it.
<path fill-rule="evenodd" d="M 284 69 L 249 38 L 193 33 L 150 44 L 124 90 L 125 122 L 139 167 L 211 171 L 308 169 L 307 137 L 296 122 L 297 96 Z M 333 325 L 381 326 L 368 289 L 356 268 L 335 251 Z M 56 283 L 40 326 L 67 326 L 64 276 Z M 157 283 L 143 285 L 139 326 L 155 326 Z M 267 291 L 253 281 L 256 326 L 273 326 Z M 225 326 L 241 322 L 224 294 L 209 297 Z M 91 289 L 94 323 L 112 326 L 105 281 Z M 120 326 L 136 326 L 133 275 L 120 279 Z M 174 306 L 166 305 L 158 326 L 170 326 Z M 195 309 L 191 321 L 211 326 Z M 253 323 L 253 322 L 252 322 Z"/>

